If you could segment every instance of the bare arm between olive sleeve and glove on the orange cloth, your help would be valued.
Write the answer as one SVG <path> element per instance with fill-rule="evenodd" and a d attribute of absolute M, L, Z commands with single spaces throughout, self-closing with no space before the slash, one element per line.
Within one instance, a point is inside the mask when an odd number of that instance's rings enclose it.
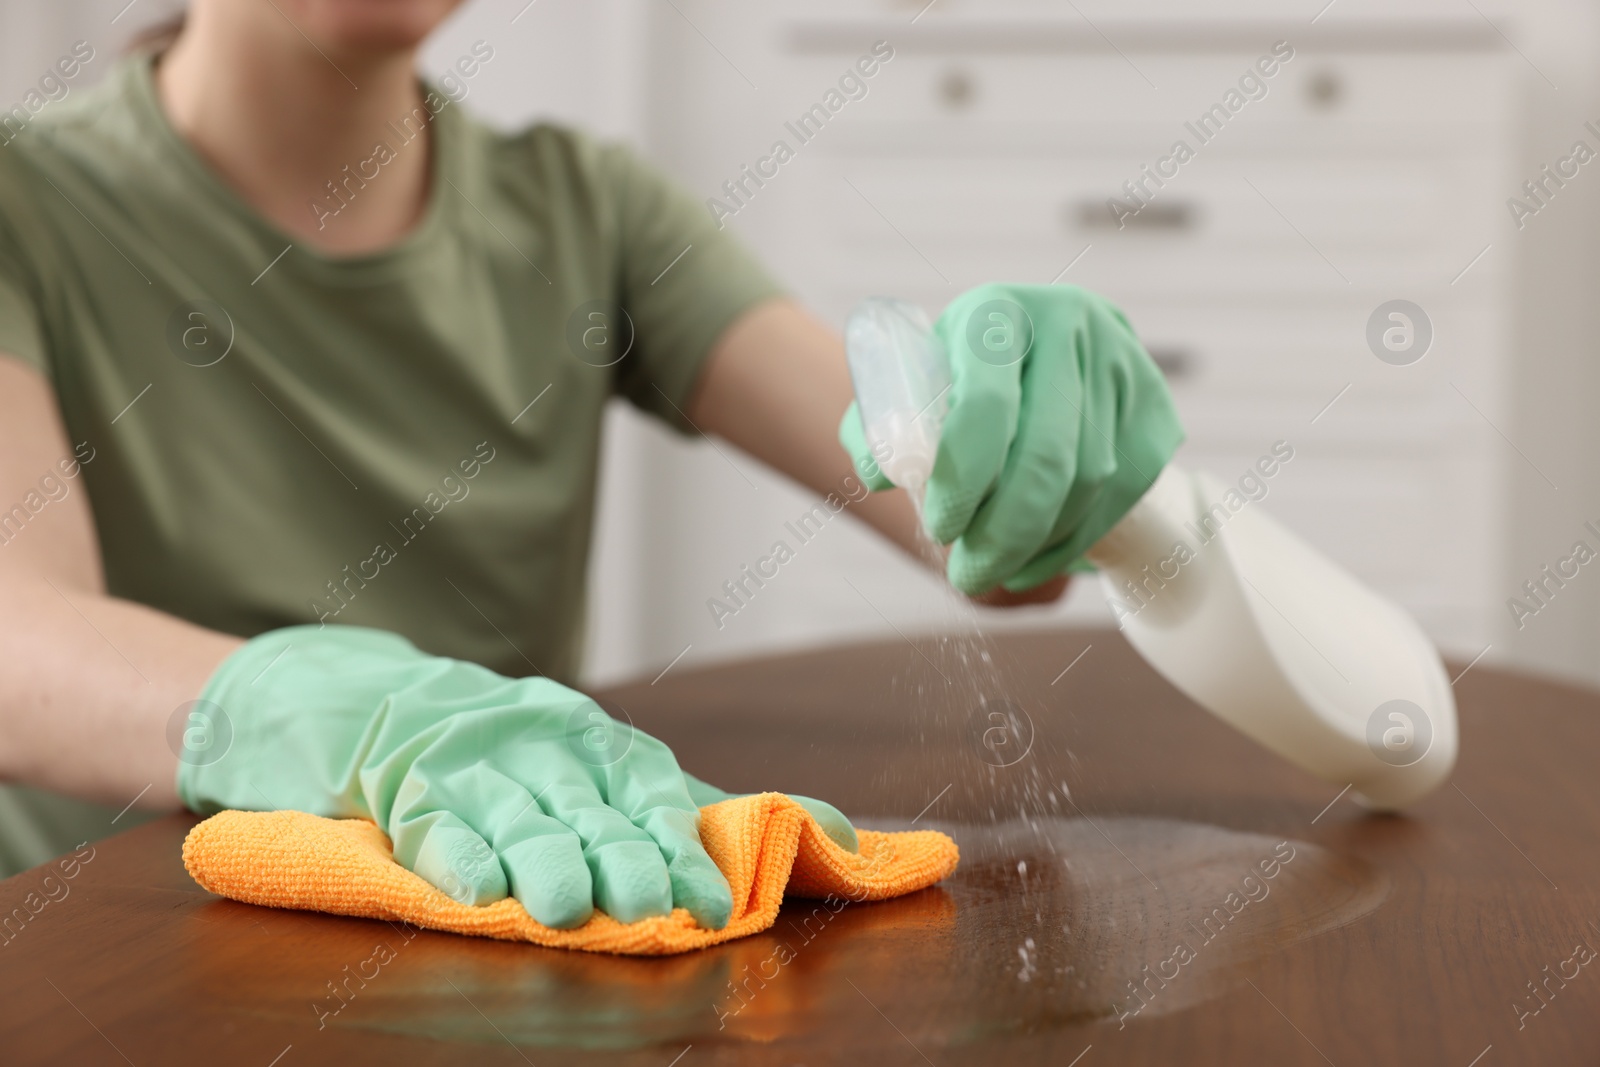
<path fill-rule="evenodd" d="M 168 721 L 240 641 L 106 595 L 82 445 L 0 357 L 0 781 L 174 806 Z"/>

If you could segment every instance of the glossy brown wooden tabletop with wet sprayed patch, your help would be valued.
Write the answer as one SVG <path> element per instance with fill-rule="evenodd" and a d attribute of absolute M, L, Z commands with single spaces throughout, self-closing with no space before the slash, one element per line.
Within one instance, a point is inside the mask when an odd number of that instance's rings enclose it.
<path fill-rule="evenodd" d="M 224 901 L 182 870 L 194 821 L 168 817 L 70 880 L 0 883 L 0 1061 L 1600 1061 L 1600 694 L 1474 667 L 1454 781 L 1394 817 L 1115 633 L 989 651 L 896 640 L 605 694 L 726 789 L 947 830 L 962 865 L 939 886 L 613 958 Z"/>

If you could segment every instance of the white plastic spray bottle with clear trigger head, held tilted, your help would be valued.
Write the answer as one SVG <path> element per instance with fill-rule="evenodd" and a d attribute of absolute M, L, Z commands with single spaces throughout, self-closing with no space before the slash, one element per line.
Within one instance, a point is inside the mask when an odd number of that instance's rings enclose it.
<path fill-rule="evenodd" d="M 920 502 L 950 387 L 928 317 L 870 299 L 845 344 L 867 443 Z M 1368 806 L 1419 800 L 1456 761 L 1438 651 L 1258 506 L 1216 509 L 1226 491 L 1168 466 L 1086 552 L 1123 635 L 1192 701 Z"/>

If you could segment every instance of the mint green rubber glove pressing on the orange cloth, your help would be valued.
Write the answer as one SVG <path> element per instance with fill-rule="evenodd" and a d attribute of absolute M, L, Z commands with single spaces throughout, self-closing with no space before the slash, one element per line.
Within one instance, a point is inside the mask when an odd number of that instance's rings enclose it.
<path fill-rule="evenodd" d="M 400 864 L 464 904 L 512 894 L 554 928 L 595 907 L 627 923 L 677 905 L 710 929 L 731 915 L 690 782 L 710 787 L 547 678 L 381 630 L 290 627 L 218 667 L 189 729 L 213 741 L 181 753 L 190 809 L 373 819 Z"/>

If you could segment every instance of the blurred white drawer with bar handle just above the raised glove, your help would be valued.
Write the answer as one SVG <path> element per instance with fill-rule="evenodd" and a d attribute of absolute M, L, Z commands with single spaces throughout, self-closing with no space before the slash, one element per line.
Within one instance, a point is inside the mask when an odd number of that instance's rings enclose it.
<path fill-rule="evenodd" d="M 1459 254 L 1504 216 L 1498 166 L 1472 157 L 1197 160 L 1162 187 L 1146 181 L 1142 208 L 1123 190 L 1141 178 L 1138 157 L 830 163 L 838 181 L 816 184 L 813 218 L 851 250 L 896 242 L 893 230 L 930 258 L 946 248 L 1058 256 L 1094 243 L 1096 262 L 1123 258 L 1186 280 L 1235 251 L 1301 261 L 1320 250 L 1336 264 L 1334 253 L 1387 259 L 1438 243 Z"/>

